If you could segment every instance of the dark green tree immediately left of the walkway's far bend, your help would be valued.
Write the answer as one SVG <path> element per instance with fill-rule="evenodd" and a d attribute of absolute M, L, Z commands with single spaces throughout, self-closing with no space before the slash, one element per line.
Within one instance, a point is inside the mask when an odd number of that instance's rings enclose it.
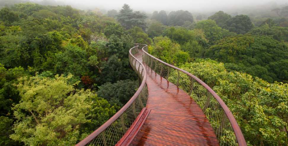
<path fill-rule="evenodd" d="M 133 39 L 130 35 L 121 37 L 111 35 L 109 41 L 99 47 L 99 55 L 97 54 L 97 56 L 101 60 L 101 74 L 96 80 L 100 84 L 105 82 L 115 83 L 118 80 L 134 80 L 136 78 L 128 60 L 129 49 L 132 46 Z"/>

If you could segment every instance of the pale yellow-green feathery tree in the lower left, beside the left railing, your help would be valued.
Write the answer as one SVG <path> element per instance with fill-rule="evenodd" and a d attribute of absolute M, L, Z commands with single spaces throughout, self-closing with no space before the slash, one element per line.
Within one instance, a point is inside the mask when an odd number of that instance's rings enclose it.
<path fill-rule="evenodd" d="M 21 100 L 13 107 L 17 122 L 10 138 L 25 145 L 74 145 L 81 140 L 81 124 L 89 123 L 91 115 L 102 115 L 107 120 L 115 113 L 107 103 L 104 111 L 97 110 L 99 102 L 105 105 L 105 100 L 89 90 L 75 89 L 79 82 L 69 83 L 71 78 L 71 74 L 19 78 Z"/>

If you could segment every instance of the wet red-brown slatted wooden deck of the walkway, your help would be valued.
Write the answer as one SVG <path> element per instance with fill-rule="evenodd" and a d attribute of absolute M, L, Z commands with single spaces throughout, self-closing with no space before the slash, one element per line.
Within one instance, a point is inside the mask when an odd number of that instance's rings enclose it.
<path fill-rule="evenodd" d="M 142 50 L 135 57 L 142 61 Z M 151 109 L 130 145 L 219 145 L 213 128 L 198 104 L 183 90 L 143 63 L 148 76 Z"/>

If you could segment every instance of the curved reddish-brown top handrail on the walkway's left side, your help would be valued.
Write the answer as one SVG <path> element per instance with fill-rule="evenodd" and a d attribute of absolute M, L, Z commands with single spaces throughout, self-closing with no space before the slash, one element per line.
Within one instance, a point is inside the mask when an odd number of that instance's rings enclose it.
<path fill-rule="evenodd" d="M 134 49 L 138 49 L 138 45 L 136 45 L 135 47 L 132 47 L 129 50 L 129 61 L 130 61 L 130 57 L 132 57 L 131 62 L 133 63 L 133 60 L 135 60 L 135 65 L 136 62 L 139 63 L 140 65 L 137 67 L 139 69 L 140 66 L 142 66 L 142 71 L 141 71 L 141 75 L 143 75 L 141 77 L 142 82 L 141 85 L 139 86 L 138 90 L 136 91 L 136 93 L 132 96 L 132 98 L 115 114 L 113 115 L 109 120 L 107 120 L 103 125 L 101 125 L 99 128 L 97 128 L 94 132 L 92 132 L 88 137 L 86 137 L 85 139 L 83 139 L 81 142 L 79 142 L 78 144 L 76 144 L 76 146 L 84 146 L 87 145 L 89 142 L 91 142 L 95 137 L 97 137 L 99 134 L 101 134 L 106 128 L 108 128 L 109 126 L 111 126 L 112 123 L 114 123 L 129 107 L 131 107 L 132 103 L 135 102 L 135 100 L 137 99 L 137 97 L 141 96 L 140 93 L 145 90 L 145 86 L 146 86 L 146 79 L 147 79 L 147 72 L 146 69 L 144 68 L 144 65 L 142 64 L 142 62 L 140 62 L 137 58 L 135 58 L 134 54 L 132 54 L 132 50 L 134 51 Z M 136 69 L 136 66 L 132 66 L 133 69 Z M 135 71 L 136 71 L 135 70 Z M 137 74 L 140 74 L 140 70 L 138 70 Z M 146 87 L 147 88 L 147 87 Z M 105 145 L 105 144 L 104 144 Z"/>

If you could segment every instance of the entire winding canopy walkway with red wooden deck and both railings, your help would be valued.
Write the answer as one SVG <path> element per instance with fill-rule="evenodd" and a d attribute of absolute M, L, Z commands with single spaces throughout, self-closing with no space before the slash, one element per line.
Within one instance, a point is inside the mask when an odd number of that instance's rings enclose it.
<path fill-rule="evenodd" d="M 135 95 L 77 145 L 239 145 L 243 134 L 222 99 L 192 74 L 135 44 L 129 61 L 138 74 Z"/>

